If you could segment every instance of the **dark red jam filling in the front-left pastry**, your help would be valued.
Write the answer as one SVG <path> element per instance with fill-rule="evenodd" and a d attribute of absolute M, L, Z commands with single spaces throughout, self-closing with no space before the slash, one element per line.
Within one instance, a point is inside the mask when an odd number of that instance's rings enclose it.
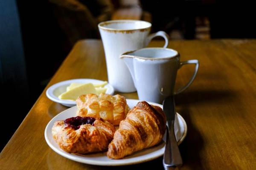
<path fill-rule="evenodd" d="M 68 119 L 65 119 L 64 122 L 67 124 L 69 127 L 78 130 L 80 128 L 80 125 L 84 124 L 90 124 L 93 125 L 93 122 L 95 121 L 94 117 L 81 117 L 81 116 L 76 116 L 76 117 L 70 117 Z"/>

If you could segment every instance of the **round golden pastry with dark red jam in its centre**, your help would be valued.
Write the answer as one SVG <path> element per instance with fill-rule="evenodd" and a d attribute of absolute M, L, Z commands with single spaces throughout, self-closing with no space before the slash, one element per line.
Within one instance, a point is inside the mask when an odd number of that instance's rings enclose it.
<path fill-rule="evenodd" d="M 93 117 L 71 117 L 56 121 L 52 127 L 53 139 L 69 153 L 90 153 L 107 150 L 115 127 Z"/>

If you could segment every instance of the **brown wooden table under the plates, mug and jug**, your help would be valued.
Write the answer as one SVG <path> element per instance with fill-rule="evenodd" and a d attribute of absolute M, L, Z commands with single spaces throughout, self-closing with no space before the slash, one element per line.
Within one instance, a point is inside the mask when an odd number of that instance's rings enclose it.
<path fill-rule="evenodd" d="M 150 46 L 163 44 L 153 41 Z M 176 96 L 177 112 L 188 126 L 180 144 L 181 169 L 255 170 L 256 40 L 171 41 L 169 48 L 179 51 L 181 60 L 200 61 L 192 86 Z M 177 86 L 186 83 L 192 70 L 184 66 L 178 72 Z M 101 41 L 79 41 L 47 88 L 76 78 L 107 80 Z M 125 167 L 101 167 L 58 155 L 45 142 L 44 129 L 53 116 L 67 108 L 49 100 L 45 91 L 0 153 L 0 169 L 163 169 L 163 157 Z M 137 99 L 136 93 L 123 95 Z"/>

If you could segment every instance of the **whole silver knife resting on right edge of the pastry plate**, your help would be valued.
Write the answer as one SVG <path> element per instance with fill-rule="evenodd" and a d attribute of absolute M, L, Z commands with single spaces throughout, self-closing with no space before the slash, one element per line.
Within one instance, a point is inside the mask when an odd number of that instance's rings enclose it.
<path fill-rule="evenodd" d="M 163 166 L 165 169 L 168 169 L 168 167 L 182 165 L 180 150 L 174 134 L 174 120 L 176 113 L 174 96 L 169 96 L 163 101 L 163 111 L 166 114 L 168 126 L 166 127 L 166 147 L 163 155 Z"/>

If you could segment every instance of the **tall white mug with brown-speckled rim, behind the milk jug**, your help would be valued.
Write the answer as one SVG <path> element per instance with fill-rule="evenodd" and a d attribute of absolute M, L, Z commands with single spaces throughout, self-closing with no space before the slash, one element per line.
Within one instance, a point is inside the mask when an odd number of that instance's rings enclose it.
<path fill-rule="evenodd" d="M 126 51 L 145 47 L 157 36 L 165 39 L 164 48 L 166 48 L 169 36 L 164 31 L 149 35 L 151 23 L 140 20 L 112 20 L 99 23 L 98 27 L 105 51 L 108 82 L 115 91 L 124 93 L 136 91 L 131 74 L 119 56 Z"/>

